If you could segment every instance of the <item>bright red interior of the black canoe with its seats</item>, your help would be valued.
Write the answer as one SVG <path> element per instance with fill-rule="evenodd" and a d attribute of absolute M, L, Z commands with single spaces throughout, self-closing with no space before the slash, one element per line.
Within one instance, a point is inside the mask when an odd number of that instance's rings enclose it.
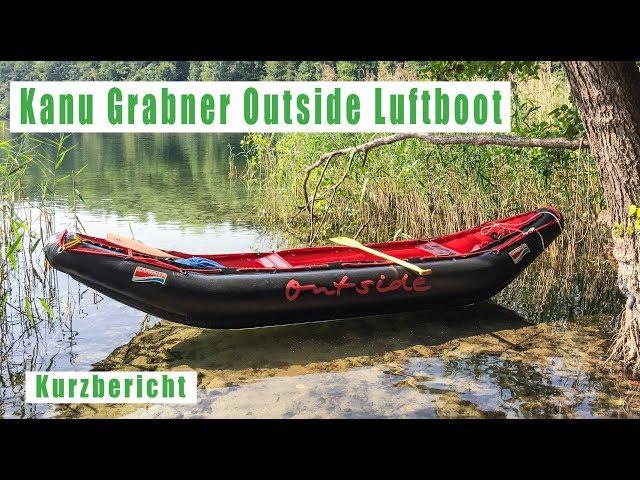
<path fill-rule="evenodd" d="M 533 211 L 514 217 L 485 223 L 479 227 L 464 230 L 429 240 L 407 240 L 367 244 L 367 246 L 401 259 L 421 259 L 426 257 L 450 257 L 492 248 L 505 236 L 519 231 L 535 217 L 541 215 Z M 188 255 L 172 252 L 181 257 Z M 304 268 L 331 263 L 386 263 L 386 260 L 362 250 L 350 247 L 323 246 L 281 250 L 266 253 L 233 253 L 219 255 L 200 255 L 210 258 L 228 268 L 248 269 L 288 269 Z"/>

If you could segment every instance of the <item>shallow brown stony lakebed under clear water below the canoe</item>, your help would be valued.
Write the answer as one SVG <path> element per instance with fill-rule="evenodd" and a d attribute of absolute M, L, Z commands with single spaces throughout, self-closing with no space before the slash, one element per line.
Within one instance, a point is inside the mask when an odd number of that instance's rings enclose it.
<path fill-rule="evenodd" d="M 600 320 L 600 321 L 597 321 Z M 97 370 L 198 372 L 196 405 L 71 405 L 66 417 L 636 417 L 598 317 L 533 325 L 492 303 L 247 330 L 160 322 Z M 303 385 L 304 388 L 299 386 Z"/>

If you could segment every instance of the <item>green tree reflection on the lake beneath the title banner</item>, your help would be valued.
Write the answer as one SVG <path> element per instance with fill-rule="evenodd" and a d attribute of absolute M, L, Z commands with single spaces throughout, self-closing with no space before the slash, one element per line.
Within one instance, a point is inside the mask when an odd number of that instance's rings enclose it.
<path fill-rule="evenodd" d="M 242 157 L 231 157 L 241 135 L 76 134 L 74 147 L 57 172 L 59 177 L 86 168 L 76 178 L 85 208 L 146 222 L 211 226 L 252 218 L 247 186 L 235 177 Z M 55 158 L 55 152 L 51 152 Z M 31 183 L 39 182 L 33 172 Z M 59 200 L 73 202 L 72 190 Z"/>

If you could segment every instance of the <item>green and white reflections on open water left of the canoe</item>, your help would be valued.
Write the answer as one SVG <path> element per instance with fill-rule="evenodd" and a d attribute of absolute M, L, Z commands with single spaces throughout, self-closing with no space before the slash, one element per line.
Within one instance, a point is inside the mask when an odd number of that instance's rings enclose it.
<path fill-rule="evenodd" d="M 48 193 L 47 221 L 54 231 L 81 225 L 97 235 L 133 232 L 141 241 L 168 249 L 235 252 L 272 248 L 282 239 L 253 222 L 252 196 L 235 175 L 243 169 L 243 159 L 229 156 L 240 138 L 72 135 L 66 143 L 74 147 L 56 176 L 62 179 L 86 165 L 75 179 L 82 198 L 70 195 L 70 178 L 62 180 L 55 192 Z M 28 202 L 15 205 L 24 218 L 40 215 L 41 180 L 38 170 L 27 172 Z M 53 188 L 50 183 L 49 189 Z M 42 268 L 40 248 L 34 250 L 33 261 Z M 47 285 L 57 287 L 57 298 L 50 301 L 52 318 L 32 325 L 12 309 L 0 323 L 0 417 L 40 416 L 46 409 L 24 404 L 24 371 L 89 369 L 128 342 L 144 318 L 142 312 L 96 295 L 66 275 L 54 273 Z M 19 308 L 24 296 L 21 279 L 13 287 L 10 303 Z M 36 283 L 30 287 L 34 297 L 50 298 L 45 292 L 48 287 Z"/>

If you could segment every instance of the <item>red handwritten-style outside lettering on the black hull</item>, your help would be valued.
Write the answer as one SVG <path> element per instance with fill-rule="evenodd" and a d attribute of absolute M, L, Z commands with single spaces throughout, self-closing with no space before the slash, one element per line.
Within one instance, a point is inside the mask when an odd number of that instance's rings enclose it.
<path fill-rule="evenodd" d="M 412 281 L 409 281 L 409 275 L 404 274 L 402 278 L 391 281 L 388 285 L 385 285 L 386 276 L 380 275 L 380 278 L 375 280 L 362 280 L 359 283 L 349 281 L 347 275 L 343 276 L 339 282 L 333 282 L 333 288 L 317 286 L 313 283 L 301 285 L 295 278 L 292 278 L 284 288 L 284 295 L 287 301 L 293 302 L 300 298 L 302 292 L 308 291 L 313 295 L 326 295 L 326 296 L 340 296 L 343 290 L 355 289 L 358 295 L 368 295 L 373 291 L 378 293 L 390 293 L 396 292 L 400 289 L 405 292 L 426 292 L 431 288 L 431 285 L 427 285 L 424 277 L 415 277 Z"/>

